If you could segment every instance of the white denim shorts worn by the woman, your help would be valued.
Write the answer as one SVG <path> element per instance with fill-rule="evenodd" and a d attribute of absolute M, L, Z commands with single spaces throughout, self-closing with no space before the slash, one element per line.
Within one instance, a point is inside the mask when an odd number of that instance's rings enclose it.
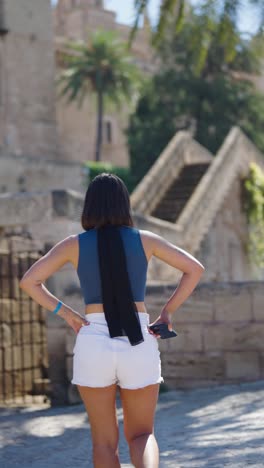
<path fill-rule="evenodd" d="M 144 341 L 132 346 L 127 336 L 111 338 L 102 312 L 86 314 L 73 348 L 71 383 L 88 387 L 136 389 L 164 382 L 158 340 L 148 331 L 149 314 L 139 312 Z"/>

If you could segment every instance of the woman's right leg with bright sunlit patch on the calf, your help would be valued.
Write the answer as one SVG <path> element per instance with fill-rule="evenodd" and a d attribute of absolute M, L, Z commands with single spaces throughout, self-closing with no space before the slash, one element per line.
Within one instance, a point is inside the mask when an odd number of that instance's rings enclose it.
<path fill-rule="evenodd" d="M 124 433 L 131 461 L 136 468 L 158 468 L 159 448 L 154 435 L 159 384 L 127 390 L 120 388 L 124 412 Z"/>

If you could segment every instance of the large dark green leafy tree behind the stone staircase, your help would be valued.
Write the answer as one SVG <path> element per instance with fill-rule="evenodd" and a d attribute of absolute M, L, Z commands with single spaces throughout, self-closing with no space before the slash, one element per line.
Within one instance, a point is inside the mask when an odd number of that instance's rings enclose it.
<path fill-rule="evenodd" d="M 197 73 L 193 44 L 203 22 L 206 17 L 192 11 L 181 35 L 170 36 L 159 47 L 162 71 L 145 86 L 127 131 L 136 182 L 179 130 L 191 130 L 197 141 L 215 153 L 230 128 L 240 125 L 264 151 L 264 97 L 244 76 L 260 67 L 261 56 L 251 42 L 255 38 L 245 41 L 234 26 L 237 53 L 228 56 L 215 37 Z"/>

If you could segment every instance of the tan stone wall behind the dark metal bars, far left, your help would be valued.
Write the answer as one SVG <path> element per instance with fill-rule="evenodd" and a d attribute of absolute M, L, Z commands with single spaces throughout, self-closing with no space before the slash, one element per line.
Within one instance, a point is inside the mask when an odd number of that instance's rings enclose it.
<path fill-rule="evenodd" d="M 48 390 L 45 311 L 19 288 L 39 255 L 0 251 L 0 401 Z"/>

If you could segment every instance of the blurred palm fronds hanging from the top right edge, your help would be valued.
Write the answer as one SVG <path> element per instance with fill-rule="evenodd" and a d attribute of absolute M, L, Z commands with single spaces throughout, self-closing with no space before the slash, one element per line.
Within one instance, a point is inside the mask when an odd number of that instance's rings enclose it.
<path fill-rule="evenodd" d="M 263 40 L 264 1 L 248 0 L 248 2 L 257 8 L 259 13 L 258 37 Z M 149 3 L 150 0 L 134 0 L 135 21 L 130 34 L 130 45 L 136 34 L 140 17 Z M 230 59 L 233 59 L 237 46 L 234 26 L 237 25 L 238 14 L 243 4 L 244 0 L 200 0 L 191 7 L 190 0 L 162 0 L 158 24 L 153 30 L 153 45 L 159 47 L 162 40 L 167 37 L 168 30 L 174 28 L 176 34 L 180 34 L 184 22 L 188 21 L 190 11 L 194 10 L 203 19 L 194 37 L 197 70 L 202 72 L 211 43 L 215 39 L 223 46 Z"/>

